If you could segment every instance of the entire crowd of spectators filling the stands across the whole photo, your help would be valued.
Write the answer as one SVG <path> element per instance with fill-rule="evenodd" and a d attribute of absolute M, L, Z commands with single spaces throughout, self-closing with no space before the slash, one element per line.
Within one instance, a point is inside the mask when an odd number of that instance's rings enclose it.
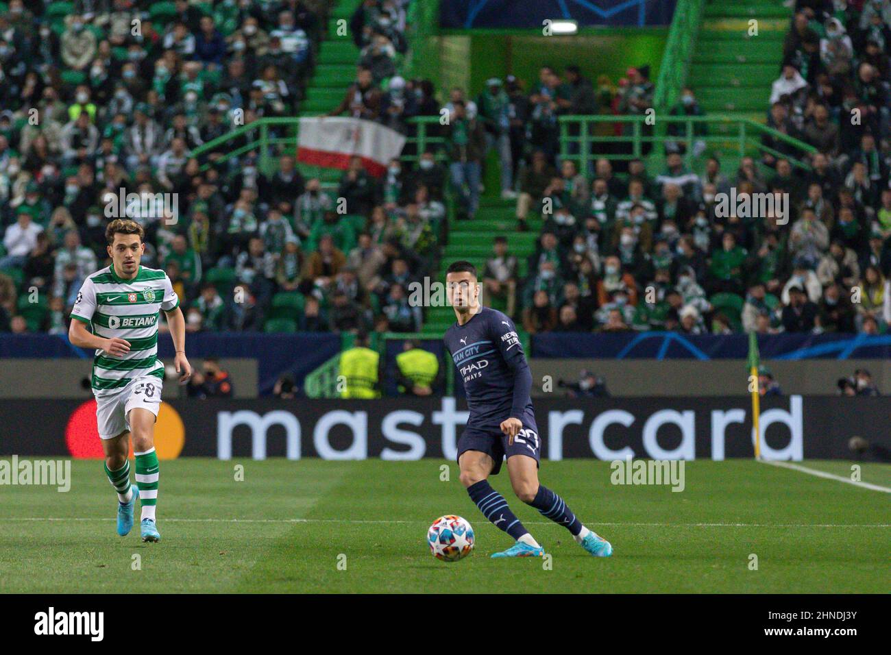
<path fill-rule="evenodd" d="M 483 272 L 527 332 L 878 333 L 891 322 L 891 0 L 797 2 L 766 114 L 818 150 L 809 170 L 765 138 L 789 159 L 745 158 L 728 172 L 712 157 L 698 174 L 683 155 L 703 144 L 680 133 L 658 176 L 606 156 L 579 170 L 560 160 L 557 118 L 647 111 L 646 67 L 615 86 L 570 65 L 544 66 L 528 84 L 493 78 L 472 96 L 437 91 L 399 74 L 407 0 L 359 5 L 356 80 L 329 114 L 411 134 L 408 119 L 442 102 L 442 149 L 393 160 L 380 178 L 356 158 L 331 189 L 287 153 L 274 153 L 274 170 L 260 169 L 256 150 L 190 156 L 242 123 L 298 113 L 330 4 L 10 0 L 0 12 L 0 331 L 67 332 L 84 276 L 106 263 L 108 208 L 126 188 L 176 193 L 176 221 L 169 210 L 135 217 L 143 264 L 167 271 L 190 331 L 415 332 L 423 315 L 408 284 L 436 274 L 446 191 L 457 218 L 473 220 L 493 149 L 518 229 L 543 220 L 524 278 L 504 239 Z M 702 114 L 694 89 L 672 113 Z M 789 193 L 789 224 L 717 216 L 731 189 Z"/>

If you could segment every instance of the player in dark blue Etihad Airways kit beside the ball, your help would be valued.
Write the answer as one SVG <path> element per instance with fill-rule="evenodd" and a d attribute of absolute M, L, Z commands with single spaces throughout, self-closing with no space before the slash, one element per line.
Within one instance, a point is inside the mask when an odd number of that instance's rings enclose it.
<path fill-rule="evenodd" d="M 559 495 L 538 482 L 541 441 L 529 391 L 532 373 L 507 315 L 479 305 L 477 269 L 457 261 L 446 271 L 446 289 L 457 322 L 446 331 L 446 348 L 464 382 L 470 418 L 458 440 L 461 481 L 486 519 L 517 540 L 493 557 L 542 557 L 544 548 L 488 482 L 507 471 L 517 497 L 568 528 L 588 553 L 609 557 L 612 545 L 585 528 Z"/>

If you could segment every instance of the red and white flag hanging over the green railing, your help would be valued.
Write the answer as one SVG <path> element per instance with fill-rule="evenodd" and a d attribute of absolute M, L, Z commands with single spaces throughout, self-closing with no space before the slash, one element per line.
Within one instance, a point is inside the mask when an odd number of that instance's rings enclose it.
<path fill-rule="evenodd" d="M 358 155 L 371 175 L 382 176 L 387 165 L 398 157 L 405 136 L 371 120 L 339 117 L 300 119 L 297 160 L 322 168 L 349 168 Z"/>

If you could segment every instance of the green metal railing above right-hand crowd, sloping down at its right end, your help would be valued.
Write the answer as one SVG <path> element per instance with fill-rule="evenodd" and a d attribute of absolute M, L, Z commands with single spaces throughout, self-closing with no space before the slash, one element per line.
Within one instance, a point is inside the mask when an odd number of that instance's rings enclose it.
<path fill-rule="evenodd" d="M 647 124 L 646 116 L 561 116 L 560 117 L 560 157 L 574 160 L 579 165 L 579 170 L 586 172 L 591 170 L 593 160 L 605 158 L 608 160 L 633 160 L 643 159 L 646 156 L 647 144 L 653 146 L 652 150 L 659 157 L 662 151 L 655 146 L 666 142 L 679 142 L 687 145 L 686 164 L 692 167 L 695 158 L 692 144 L 697 141 L 706 143 L 711 151 L 723 149 L 737 151 L 738 155 L 772 154 L 789 160 L 796 168 L 809 170 L 805 157 L 816 152 L 816 148 L 808 143 L 799 141 L 789 135 L 784 135 L 771 127 L 766 127 L 744 116 L 666 116 L 656 115 L 656 125 Z M 621 135 L 604 135 L 605 130 L 598 126 L 607 124 L 610 127 L 618 127 Z M 669 125 L 681 125 L 681 135 L 667 135 L 664 132 Z M 696 126 L 705 125 L 706 135 L 697 135 Z M 661 127 L 662 129 L 658 129 Z M 606 130 L 612 131 L 612 130 Z M 792 148 L 791 154 L 781 153 L 761 143 L 763 135 L 771 135 L 775 139 L 787 143 Z M 600 144 L 611 144 L 609 147 L 601 147 Z"/>

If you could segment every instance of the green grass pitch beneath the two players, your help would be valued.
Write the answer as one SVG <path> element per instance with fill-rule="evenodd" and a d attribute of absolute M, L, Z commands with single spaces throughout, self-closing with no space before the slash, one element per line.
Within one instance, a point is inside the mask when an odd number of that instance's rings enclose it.
<path fill-rule="evenodd" d="M 544 484 L 612 542 L 609 559 L 521 504 L 504 471 L 493 486 L 552 554 L 549 567 L 488 557 L 510 537 L 470 503 L 451 462 L 182 459 L 160 472 L 159 544 L 143 544 L 138 524 L 115 534 L 100 462 L 72 463 L 68 493 L 0 487 L 0 593 L 887 593 L 887 493 L 753 461 L 688 462 L 680 493 L 614 486 L 607 462 L 544 462 Z M 862 464 L 862 480 L 891 486 L 891 466 Z M 477 536 L 455 563 L 425 541 L 447 513 Z"/>

